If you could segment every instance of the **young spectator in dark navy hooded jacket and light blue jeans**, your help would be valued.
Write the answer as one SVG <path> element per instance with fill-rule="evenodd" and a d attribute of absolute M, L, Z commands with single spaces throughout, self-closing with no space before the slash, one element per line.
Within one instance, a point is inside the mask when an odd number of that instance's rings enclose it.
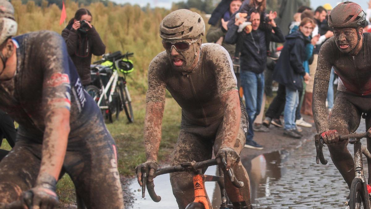
<path fill-rule="evenodd" d="M 307 56 L 305 46 L 311 42 L 309 36 L 314 27 L 312 19 L 304 18 L 300 23 L 299 30 L 286 36 L 286 42 L 273 73 L 274 79 L 285 86 L 285 131 L 283 134 L 292 138 L 301 138 L 301 134 L 296 129 L 295 111 L 299 103 L 298 90 L 302 89 L 302 79 L 304 78 L 305 81 L 310 79 L 310 75 L 305 72 L 303 67 L 303 61 Z"/>

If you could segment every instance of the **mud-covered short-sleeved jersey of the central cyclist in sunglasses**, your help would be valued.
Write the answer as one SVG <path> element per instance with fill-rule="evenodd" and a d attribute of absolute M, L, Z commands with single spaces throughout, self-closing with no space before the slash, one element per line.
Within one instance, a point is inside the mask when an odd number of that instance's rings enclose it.
<path fill-rule="evenodd" d="M 198 65 L 187 74 L 173 70 L 166 51 L 161 52 L 148 69 L 147 104 L 165 103 L 165 89 L 182 108 L 183 122 L 206 126 L 223 119 L 221 95 L 237 91 L 228 52 L 218 44 L 202 44 Z"/>

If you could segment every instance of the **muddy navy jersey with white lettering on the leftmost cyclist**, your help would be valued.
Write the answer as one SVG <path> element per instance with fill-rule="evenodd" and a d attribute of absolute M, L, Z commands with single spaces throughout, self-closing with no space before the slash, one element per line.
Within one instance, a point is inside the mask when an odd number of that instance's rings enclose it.
<path fill-rule="evenodd" d="M 22 132 L 42 136 L 46 114 L 63 107 L 70 110 L 70 135 L 77 133 L 99 110 L 86 93 L 65 41 L 58 33 L 43 30 L 13 38 L 17 69 L 0 82 L 0 109 L 22 126 Z"/>

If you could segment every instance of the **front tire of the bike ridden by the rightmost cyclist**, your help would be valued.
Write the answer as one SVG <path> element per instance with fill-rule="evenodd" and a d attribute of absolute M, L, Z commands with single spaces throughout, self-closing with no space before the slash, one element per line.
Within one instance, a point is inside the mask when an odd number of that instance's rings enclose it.
<path fill-rule="evenodd" d="M 354 178 L 350 187 L 350 194 L 349 194 L 349 209 L 361 209 L 366 208 L 366 202 L 363 182 L 359 178 Z"/>

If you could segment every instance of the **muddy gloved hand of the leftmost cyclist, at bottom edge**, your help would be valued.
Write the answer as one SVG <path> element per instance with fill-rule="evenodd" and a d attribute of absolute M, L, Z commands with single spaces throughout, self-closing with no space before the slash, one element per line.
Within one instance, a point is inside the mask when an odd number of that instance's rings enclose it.
<path fill-rule="evenodd" d="M 59 204 L 56 180 L 49 174 L 37 178 L 36 185 L 22 195 L 22 200 L 29 209 L 53 209 Z"/>

